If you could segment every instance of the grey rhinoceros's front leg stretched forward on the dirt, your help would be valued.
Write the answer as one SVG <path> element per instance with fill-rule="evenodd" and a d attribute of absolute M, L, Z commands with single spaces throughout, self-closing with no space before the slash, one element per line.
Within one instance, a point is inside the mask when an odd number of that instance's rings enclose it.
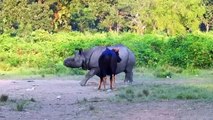
<path fill-rule="evenodd" d="M 85 86 L 87 81 L 93 77 L 94 75 L 96 75 L 97 73 L 99 72 L 99 69 L 98 68 L 94 68 L 94 69 L 91 69 L 85 76 L 85 78 L 80 82 L 80 85 L 81 86 Z"/>

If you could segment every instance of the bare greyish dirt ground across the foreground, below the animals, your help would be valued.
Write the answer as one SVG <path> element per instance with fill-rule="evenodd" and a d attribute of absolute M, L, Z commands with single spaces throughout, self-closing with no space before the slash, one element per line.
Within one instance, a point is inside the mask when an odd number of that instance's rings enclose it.
<path fill-rule="evenodd" d="M 0 120 L 213 120 L 212 102 L 110 102 L 107 98 L 114 96 L 116 90 L 98 91 L 98 78 L 81 87 L 82 78 L 1 78 L 0 95 L 7 94 L 9 102 L 0 104 Z M 127 86 L 123 80 L 117 80 L 116 85 L 117 88 Z M 15 100 L 31 98 L 35 102 L 26 105 L 24 111 L 17 111 L 16 104 L 12 104 Z"/>

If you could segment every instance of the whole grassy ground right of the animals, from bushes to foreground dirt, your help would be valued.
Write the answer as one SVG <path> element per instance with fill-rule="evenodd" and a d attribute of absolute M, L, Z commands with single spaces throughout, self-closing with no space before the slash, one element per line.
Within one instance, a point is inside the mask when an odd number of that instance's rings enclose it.
<path fill-rule="evenodd" d="M 156 76 L 162 69 L 172 72 L 171 78 Z M 175 69 L 175 70 L 172 70 Z M 136 85 L 119 88 L 115 101 L 150 101 L 150 100 L 206 100 L 213 101 L 213 70 L 192 70 L 160 67 L 156 69 L 136 68 Z M 175 72 L 178 70 L 178 72 Z"/>

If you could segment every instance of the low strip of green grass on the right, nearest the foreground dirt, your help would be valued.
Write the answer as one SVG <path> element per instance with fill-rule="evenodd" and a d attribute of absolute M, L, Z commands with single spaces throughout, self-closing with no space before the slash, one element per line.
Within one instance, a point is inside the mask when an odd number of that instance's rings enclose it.
<path fill-rule="evenodd" d="M 213 101 L 213 84 L 143 84 L 119 89 L 116 101 L 209 100 Z"/>

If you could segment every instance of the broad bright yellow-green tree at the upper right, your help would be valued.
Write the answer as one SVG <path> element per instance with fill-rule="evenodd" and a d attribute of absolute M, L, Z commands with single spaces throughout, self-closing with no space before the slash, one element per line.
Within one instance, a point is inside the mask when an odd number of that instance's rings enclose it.
<path fill-rule="evenodd" d="M 141 0 L 140 18 L 146 32 L 168 35 L 198 30 L 205 12 L 201 0 Z"/>

